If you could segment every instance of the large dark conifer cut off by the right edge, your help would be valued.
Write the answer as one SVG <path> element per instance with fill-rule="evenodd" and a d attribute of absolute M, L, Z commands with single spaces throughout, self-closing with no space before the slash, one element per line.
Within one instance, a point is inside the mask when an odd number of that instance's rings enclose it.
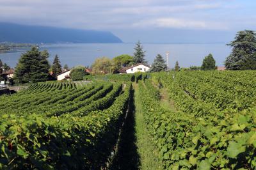
<path fill-rule="evenodd" d="M 225 61 L 227 70 L 256 70 L 255 31 L 239 31 L 235 40 L 227 45 L 232 48 L 230 56 Z"/>

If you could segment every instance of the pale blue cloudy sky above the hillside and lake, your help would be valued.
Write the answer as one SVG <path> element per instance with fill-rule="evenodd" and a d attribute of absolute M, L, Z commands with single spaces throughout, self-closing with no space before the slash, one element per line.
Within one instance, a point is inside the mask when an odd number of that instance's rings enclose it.
<path fill-rule="evenodd" d="M 0 22 L 111 31 L 124 42 L 227 43 L 255 0 L 0 0 Z"/>

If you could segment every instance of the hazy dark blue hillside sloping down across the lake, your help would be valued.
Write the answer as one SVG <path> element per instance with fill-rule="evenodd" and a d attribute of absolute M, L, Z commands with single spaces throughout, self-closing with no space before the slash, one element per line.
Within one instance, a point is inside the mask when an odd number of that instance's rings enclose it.
<path fill-rule="evenodd" d="M 14 43 L 120 43 L 109 31 L 25 26 L 0 22 L 0 42 Z"/>

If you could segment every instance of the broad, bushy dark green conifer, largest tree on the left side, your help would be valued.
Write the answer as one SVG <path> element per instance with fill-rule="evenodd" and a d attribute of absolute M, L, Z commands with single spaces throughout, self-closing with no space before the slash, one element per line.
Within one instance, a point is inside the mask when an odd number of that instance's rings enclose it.
<path fill-rule="evenodd" d="M 49 53 L 47 50 L 40 52 L 37 47 L 32 47 L 22 54 L 15 68 L 14 79 L 19 82 L 38 82 L 49 80 Z"/>

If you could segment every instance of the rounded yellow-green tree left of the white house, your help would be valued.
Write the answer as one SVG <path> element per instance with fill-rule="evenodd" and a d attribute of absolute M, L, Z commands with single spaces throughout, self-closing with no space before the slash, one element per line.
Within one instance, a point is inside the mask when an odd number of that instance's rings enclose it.
<path fill-rule="evenodd" d="M 95 59 L 94 63 L 92 64 L 92 72 L 95 74 L 112 73 L 112 60 L 106 57 Z"/>

